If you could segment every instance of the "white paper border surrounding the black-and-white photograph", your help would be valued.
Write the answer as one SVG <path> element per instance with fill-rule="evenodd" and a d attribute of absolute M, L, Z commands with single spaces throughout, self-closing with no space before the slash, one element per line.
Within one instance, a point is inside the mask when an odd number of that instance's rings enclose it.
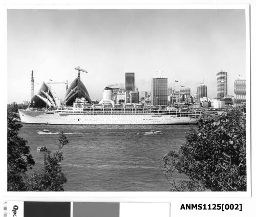
<path fill-rule="evenodd" d="M 67 201 L 69 198 L 77 198 L 77 200 L 89 199 L 92 201 L 106 201 L 112 198 L 112 201 L 136 201 L 142 200 L 151 202 L 155 199 L 161 201 L 166 201 L 168 198 L 238 198 L 238 197 L 250 197 L 251 196 L 251 93 L 250 93 L 250 6 L 248 4 L 236 4 L 236 5 L 172 5 L 172 4 L 125 4 L 125 5 L 114 5 L 114 4 L 90 4 L 90 5 L 5 5 L 1 18 L 3 18 L 4 27 L 7 27 L 7 10 L 8 9 L 58 9 L 58 10 L 70 10 L 70 9 L 244 9 L 245 10 L 245 23 L 246 23 L 246 165 L 247 165 L 247 191 L 245 192 L 92 192 L 92 191 L 82 191 L 82 192 L 10 192 L 7 191 L 7 145 L 6 145 L 6 124 L 7 124 L 7 114 L 6 110 L 2 112 L 5 114 L 2 116 L 5 118 L 5 121 L 2 122 L 2 177 L 4 177 L 4 197 L 6 200 L 14 200 L 18 198 L 19 200 L 28 200 L 28 198 L 38 198 L 40 200 L 47 200 L 47 198 L 55 198 L 58 201 Z M 1 19 L 2 20 L 2 19 Z M 7 31 L 7 30 L 6 30 Z M 6 37 L 6 38 L 5 38 Z M 4 36 L 4 39 L 7 39 L 7 34 Z M 5 40 L 7 41 L 7 40 Z M 4 52 L 7 54 L 7 45 L 3 43 Z M 3 60 L 5 61 L 4 69 L 5 76 L 7 80 L 7 57 L 4 56 Z M 5 88 L 5 89 L 4 89 Z M 7 84 L 3 85 L 3 89 L 7 90 Z M 7 104 L 7 94 L 6 94 L 6 104 Z M 6 109 L 6 107 L 4 107 Z M 5 134 L 5 135 L 3 135 Z M 79 198 L 79 199 L 78 199 Z"/>

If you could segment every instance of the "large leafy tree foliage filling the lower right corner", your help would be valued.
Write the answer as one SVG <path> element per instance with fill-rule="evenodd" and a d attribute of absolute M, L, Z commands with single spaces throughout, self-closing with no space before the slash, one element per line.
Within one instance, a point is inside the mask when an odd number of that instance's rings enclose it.
<path fill-rule="evenodd" d="M 169 151 L 162 160 L 171 190 L 246 191 L 245 108 L 200 119 L 198 129 L 190 128 L 179 152 Z M 189 180 L 177 186 L 174 171 Z"/>

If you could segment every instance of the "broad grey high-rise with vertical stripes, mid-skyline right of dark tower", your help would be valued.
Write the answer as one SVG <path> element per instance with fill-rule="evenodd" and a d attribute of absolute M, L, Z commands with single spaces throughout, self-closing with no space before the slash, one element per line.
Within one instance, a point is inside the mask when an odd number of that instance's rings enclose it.
<path fill-rule="evenodd" d="M 152 105 L 167 105 L 168 78 L 152 78 L 151 80 L 151 104 Z"/>

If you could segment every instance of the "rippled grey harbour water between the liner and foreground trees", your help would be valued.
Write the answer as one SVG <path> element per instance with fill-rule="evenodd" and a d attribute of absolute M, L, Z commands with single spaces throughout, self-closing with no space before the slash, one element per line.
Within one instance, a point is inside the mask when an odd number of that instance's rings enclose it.
<path fill-rule="evenodd" d="M 39 135 L 37 130 L 67 133 L 62 148 L 62 171 L 67 175 L 65 191 L 168 191 L 170 184 L 161 171 L 161 158 L 179 150 L 189 125 L 33 125 L 20 129 L 35 160 L 33 169 L 43 165 L 38 146 L 56 151 L 58 134 Z M 163 131 L 163 135 L 145 132 Z M 176 172 L 175 180 L 185 180 Z"/>

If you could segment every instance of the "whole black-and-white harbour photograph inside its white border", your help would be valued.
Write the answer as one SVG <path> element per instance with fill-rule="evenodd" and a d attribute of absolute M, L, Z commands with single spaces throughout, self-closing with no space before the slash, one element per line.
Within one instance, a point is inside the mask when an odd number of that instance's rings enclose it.
<path fill-rule="evenodd" d="M 247 13 L 7 9 L 7 191 L 250 190 Z"/>

